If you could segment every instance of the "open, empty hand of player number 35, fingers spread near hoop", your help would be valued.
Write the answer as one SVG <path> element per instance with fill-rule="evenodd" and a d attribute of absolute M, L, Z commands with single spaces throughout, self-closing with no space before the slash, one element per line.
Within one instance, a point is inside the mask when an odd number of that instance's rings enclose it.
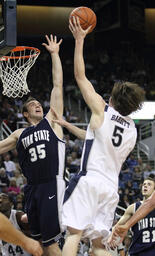
<path fill-rule="evenodd" d="M 47 40 L 47 44 L 46 43 L 42 43 L 42 45 L 45 46 L 45 48 L 52 54 L 52 53 L 58 53 L 59 52 L 59 48 L 60 48 L 60 44 L 62 43 L 62 39 L 60 39 L 59 42 L 57 42 L 57 37 L 53 36 L 52 34 L 50 35 L 50 37 L 48 37 L 47 35 L 45 36 L 46 40 Z"/>

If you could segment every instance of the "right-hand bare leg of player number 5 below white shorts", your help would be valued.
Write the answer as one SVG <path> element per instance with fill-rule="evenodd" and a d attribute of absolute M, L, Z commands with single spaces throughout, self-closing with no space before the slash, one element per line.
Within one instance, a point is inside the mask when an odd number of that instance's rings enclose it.
<path fill-rule="evenodd" d="M 110 252 L 105 249 L 102 244 L 102 237 L 92 240 L 92 255 L 93 256 L 111 256 Z"/>

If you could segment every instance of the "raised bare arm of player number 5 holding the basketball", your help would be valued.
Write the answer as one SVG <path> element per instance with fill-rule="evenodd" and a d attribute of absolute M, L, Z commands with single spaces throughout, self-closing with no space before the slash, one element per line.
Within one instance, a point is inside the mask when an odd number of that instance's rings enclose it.
<path fill-rule="evenodd" d="M 104 111 L 105 101 L 97 94 L 85 75 L 85 64 L 83 58 L 84 38 L 89 32 L 89 27 L 83 30 L 80 26 L 79 19 L 73 17 L 73 23 L 69 21 L 69 28 L 75 38 L 74 51 L 74 75 L 85 102 L 93 113 L 100 114 L 101 109 Z"/>

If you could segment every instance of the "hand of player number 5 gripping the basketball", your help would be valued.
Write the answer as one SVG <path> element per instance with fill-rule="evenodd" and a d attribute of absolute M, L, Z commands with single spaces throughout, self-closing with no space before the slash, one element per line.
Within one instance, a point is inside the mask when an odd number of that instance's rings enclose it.
<path fill-rule="evenodd" d="M 89 33 L 89 30 L 91 29 L 91 26 L 85 30 L 82 29 L 79 18 L 73 16 L 73 21 L 71 21 L 71 19 L 69 20 L 69 29 L 72 32 L 74 38 L 78 40 L 86 37 L 86 35 Z"/>

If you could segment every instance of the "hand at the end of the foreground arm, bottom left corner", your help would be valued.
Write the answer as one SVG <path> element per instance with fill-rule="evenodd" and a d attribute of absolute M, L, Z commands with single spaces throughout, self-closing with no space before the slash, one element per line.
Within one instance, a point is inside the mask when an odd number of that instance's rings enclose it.
<path fill-rule="evenodd" d="M 41 248 L 40 243 L 31 238 L 27 237 L 27 240 L 25 241 L 25 244 L 22 247 L 25 249 L 25 251 L 34 256 L 41 256 L 43 254 L 43 250 Z"/>

